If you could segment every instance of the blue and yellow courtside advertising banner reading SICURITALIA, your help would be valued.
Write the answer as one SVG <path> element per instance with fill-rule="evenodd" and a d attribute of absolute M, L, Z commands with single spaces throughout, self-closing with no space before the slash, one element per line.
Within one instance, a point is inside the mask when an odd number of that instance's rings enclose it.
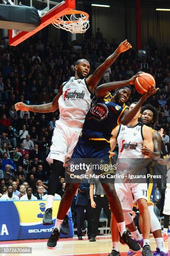
<path fill-rule="evenodd" d="M 49 238 L 53 231 L 60 200 L 53 202 L 53 225 L 42 224 L 46 201 L 2 201 L 0 202 L 0 241 Z M 71 217 L 71 211 L 69 211 Z M 62 237 L 73 237 L 72 220 L 70 232 Z"/>

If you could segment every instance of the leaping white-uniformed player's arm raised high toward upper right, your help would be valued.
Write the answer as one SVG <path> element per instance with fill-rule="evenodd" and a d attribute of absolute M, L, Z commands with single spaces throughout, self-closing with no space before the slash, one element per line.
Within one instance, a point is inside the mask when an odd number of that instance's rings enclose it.
<path fill-rule="evenodd" d="M 101 80 L 101 77 L 103 77 L 104 72 L 106 69 L 108 69 L 114 61 L 117 59 L 117 57 L 124 51 L 129 50 L 132 48 L 131 44 L 127 42 L 127 40 L 123 41 L 116 51 L 112 55 L 110 55 L 104 63 L 102 63 L 95 71 L 93 74 L 91 74 L 89 77 L 86 78 L 87 85 L 89 86 L 89 90 L 91 92 L 94 91 L 94 87 L 98 84 L 98 82 Z"/>

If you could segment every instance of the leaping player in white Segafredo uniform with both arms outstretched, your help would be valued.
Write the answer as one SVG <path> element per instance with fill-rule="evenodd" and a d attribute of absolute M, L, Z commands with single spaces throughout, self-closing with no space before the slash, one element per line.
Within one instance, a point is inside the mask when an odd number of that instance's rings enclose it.
<path fill-rule="evenodd" d="M 25 105 L 23 102 L 15 104 L 16 110 L 48 113 L 55 112 L 59 108 L 60 111 L 60 118 L 56 121 L 50 154 L 47 158 L 47 161 L 53 162 L 53 165 L 48 182 L 46 211 L 43 216 L 44 225 L 51 225 L 53 223 L 52 204 L 57 189 L 58 177 L 62 173 L 65 159 L 72 155 L 74 147 L 76 146 L 86 113 L 90 108 L 91 95 L 94 94 L 94 88 L 101 80 L 101 77 L 103 77 L 105 70 L 114 63 L 119 54 L 130 48 L 132 48 L 132 46 L 127 40 L 123 41 L 116 51 L 89 77 L 87 77 L 90 72 L 89 62 L 86 59 L 78 60 L 75 65 L 75 77 L 71 77 L 68 82 L 61 85 L 58 94 L 51 103 L 30 106 Z M 66 186 L 66 192 L 68 194 L 67 201 L 70 203 L 72 201 L 72 196 L 70 195 L 72 194 L 69 193 L 69 184 Z M 64 205 L 67 204 L 67 201 Z M 60 216 L 63 215 L 63 210 L 63 207 L 59 207 L 58 214 L 60 214 Z M 67 217 L 68 216 L 66 216 L 66 218 Z M 60 221 L 62 223 L 61 219 Z M 65 224 L 67 228 L 68 221 Z"/>

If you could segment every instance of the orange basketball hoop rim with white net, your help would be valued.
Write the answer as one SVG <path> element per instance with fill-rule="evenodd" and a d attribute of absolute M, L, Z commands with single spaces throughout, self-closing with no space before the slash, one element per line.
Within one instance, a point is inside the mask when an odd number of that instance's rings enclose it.
<path fill-rule="evenodd" d="M 62 28 L 71 33 L 85 33 L 89 28 L 89 14 L 83 11 L 71 10 L 52 22 L 56 28 Z"/>

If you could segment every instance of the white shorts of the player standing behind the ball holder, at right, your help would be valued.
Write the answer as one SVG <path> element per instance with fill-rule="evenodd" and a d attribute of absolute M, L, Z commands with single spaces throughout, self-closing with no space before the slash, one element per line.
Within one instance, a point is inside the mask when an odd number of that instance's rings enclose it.
<path fill-rule="evenodd" d="M 131 212 L 138 199 L 147 201 L 147 183 L 114 183 L 114 186 L 124 212 Z"/>

